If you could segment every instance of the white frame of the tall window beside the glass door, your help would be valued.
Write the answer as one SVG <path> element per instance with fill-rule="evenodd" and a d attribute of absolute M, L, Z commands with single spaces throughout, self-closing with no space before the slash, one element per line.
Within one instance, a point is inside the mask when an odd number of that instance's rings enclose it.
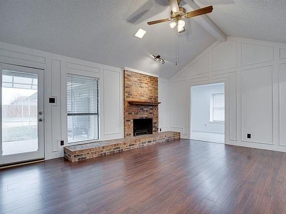
<path fill-rule="evenodd" d="M 93 74 L 93 75 L 92 75 Z M 81 76 L 81 77 L 88 77 L 88 78 L 95 78 L 98 80 L 98 139 L 93 139 L 93 140 L 86 140 L 86 141 L 78 141 L 78 142 L 73 142 L 73 143 L 69 143 L 69 138 L 68 138 L 68 92 L 67 92 L 67 84 L 68 84 L 68 76 L 69 75 L 73 75 L 73 76 Z M 97 75 L 97 73 L 91 73 L 91 72 L 85 72 L 85 71 L 75 71 L 75 72 L 67 72 L 66 75 L 66 134 L 67 134 L 67 146 L 72 146 L 72 145 L 80 145 L 80 144 L 86 144 L 86 143 L 93 143 L 93 142 L 98 142 L 100 141 L 100 77 L 99 75 Z M 71 113 L 73 114 L 73 113 Z M 89 113 L 87 113 L 89 115 Z M 83 115 L 82 113 L 78 113 L 78 115 Z M 85 114 L 84 114 L 85 115 Z M 94 113 L 90 113 L 90 115 L 94 115 Z M 72 116 L 72 115 L 70 115 Z"/>

